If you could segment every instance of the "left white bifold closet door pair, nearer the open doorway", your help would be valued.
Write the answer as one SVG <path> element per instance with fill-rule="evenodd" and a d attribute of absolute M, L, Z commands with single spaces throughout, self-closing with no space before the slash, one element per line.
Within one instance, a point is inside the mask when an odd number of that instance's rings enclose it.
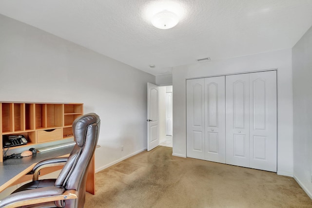
<path fill-rule="evenodd" d="M 225 77 L 187 80 L 187 156 L 225 163 Z"/>

